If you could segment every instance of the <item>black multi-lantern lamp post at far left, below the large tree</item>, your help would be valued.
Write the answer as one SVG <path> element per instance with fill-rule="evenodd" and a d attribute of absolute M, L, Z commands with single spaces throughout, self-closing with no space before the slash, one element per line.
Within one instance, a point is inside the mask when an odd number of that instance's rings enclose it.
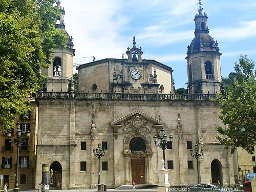
<path fill-rule="evenodd" d="M 18 162 L 19 162 L 19 146 L 20 144 L 23 144 L 25 142 L 27 142 L 27 140 L 20 138 L 20 136 L 22 135 L 22 130 L 20 130 L 20 123 L 17 122 L 16 123 L 16 127 L 17 127 L 17 132 L 16 132 L 16 139 L 10 139 L 11 137 L 11 131 L 9 131 L 7 133 L 7 136 L 9 138 L 9 142 L 15 144 L 17 146 L 17 163 L 16 163 L 16 183 L 15 183 L 15 188 L 13 189 L 14 192 L 18 192 L 19 188 L 18 188 Z M 27 135 L 27 139 L 29 139 L 30 136 L 30 132 L 27 131 L 26 132 Z"/>

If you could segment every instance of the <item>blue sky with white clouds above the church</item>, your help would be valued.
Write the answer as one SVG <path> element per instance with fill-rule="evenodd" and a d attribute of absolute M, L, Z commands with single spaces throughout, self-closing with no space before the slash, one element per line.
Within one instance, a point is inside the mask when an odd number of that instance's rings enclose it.
<path fill-rule="evenodd" d="M 104 58 L 127 58 L 126 48 L 144 51 L 172 67 L 176 89 L 186 88 L 186 51 L 195 37 L 198 0 L 60 0 L 66 31 L 73 36 L 74 63 Z M 218 41 L 222 77 L 233 72 L 241 54 L 256 62 L 256 1 L 201 0 L 209 17 L 209 35 Z"/>

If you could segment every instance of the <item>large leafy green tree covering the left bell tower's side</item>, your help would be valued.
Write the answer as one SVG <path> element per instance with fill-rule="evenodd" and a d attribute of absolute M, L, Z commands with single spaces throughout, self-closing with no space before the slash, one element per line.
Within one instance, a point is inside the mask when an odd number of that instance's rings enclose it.
<path fill-rule="evenodd" d="M 65 48 L 55 29 L 54 0 L 2 0 L 0 3 L 0 129 L 10 129 L 16 114 L 30 109 L 30 98 L 45 81 L 39 73 L 51 50 Z"/>

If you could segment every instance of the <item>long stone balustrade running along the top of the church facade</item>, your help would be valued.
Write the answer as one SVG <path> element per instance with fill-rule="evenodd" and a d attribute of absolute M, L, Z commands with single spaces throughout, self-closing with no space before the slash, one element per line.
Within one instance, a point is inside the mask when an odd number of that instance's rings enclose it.
<path fill-rule="evenodd" d="M 77 99 L 77 100 L 210 100 L 216 94 L 122 94 L 122 93 L 72 93 L 37 92 L 37 99 Z"/>

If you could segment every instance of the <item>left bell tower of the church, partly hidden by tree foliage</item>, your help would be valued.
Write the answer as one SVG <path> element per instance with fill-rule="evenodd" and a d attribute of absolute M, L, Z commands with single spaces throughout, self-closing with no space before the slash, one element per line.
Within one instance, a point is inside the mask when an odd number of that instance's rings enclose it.
<path fill-rule="evenodd" d="M 53 56 L 51 65 L 49 65 L 48 69 L 42 70 L 42 73 L 47 76 L 44 91 L 68 92 L 72 89 L 73 57 L 75 56 L 75 49 L 73 49 L 72 36 L 69 36 L 65 30 L 65 10 L 60 6 L 60 1 L 57 1 L 56 3 L 59 15 L 56 18 L 55 28 L 64 31 L 65 35 L 68 37 L 68 42 L 65 49 L 54 49 L 52 51 Z"/>

